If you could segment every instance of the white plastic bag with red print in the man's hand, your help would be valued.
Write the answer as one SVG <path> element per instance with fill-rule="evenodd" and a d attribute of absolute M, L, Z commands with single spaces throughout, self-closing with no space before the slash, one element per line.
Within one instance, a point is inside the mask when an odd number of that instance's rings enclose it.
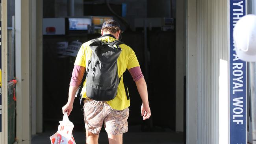
<path fill-rule="evenodd" d="M 57 133 L 50 137 L 52 144 L 76 144 L 72 135 L 74 124 L 69 121 L 67 113 L 64 113 L 63 120 L 59 121 Z"/>

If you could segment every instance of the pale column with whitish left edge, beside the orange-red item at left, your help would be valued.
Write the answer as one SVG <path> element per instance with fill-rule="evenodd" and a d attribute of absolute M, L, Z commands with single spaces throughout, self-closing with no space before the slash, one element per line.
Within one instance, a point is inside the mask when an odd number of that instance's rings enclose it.
<path fill-rule="evenodd" d="M 15 0 L 16 136 L 20 144 L 31 143 L 30 2 L 30 0 Z"/>

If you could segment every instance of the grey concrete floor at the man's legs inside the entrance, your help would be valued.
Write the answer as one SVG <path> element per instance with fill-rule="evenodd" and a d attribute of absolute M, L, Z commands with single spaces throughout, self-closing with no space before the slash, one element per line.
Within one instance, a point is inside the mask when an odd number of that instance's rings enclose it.
<path fill-rule="evenodd" d="M 50 144 L 50 136 L 56 131 L 40 133 L 32 137 L 32 144 Z M 73 133 L 76 144 L 85 144 L 85 133 Z M 99 144 L 108 144 L 106 132 L 101 132 L 98 140 Z M 123 144 L 184 144 L 183 133 L 175 132 L 128 132 L 123 135 Z"/>

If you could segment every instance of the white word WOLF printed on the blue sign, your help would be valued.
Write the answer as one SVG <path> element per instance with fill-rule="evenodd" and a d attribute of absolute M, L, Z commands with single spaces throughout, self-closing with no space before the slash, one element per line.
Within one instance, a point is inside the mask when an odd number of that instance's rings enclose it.
<path fill-rule="evenodd" d="M 239 119 L 243 117 L 243 101 L 241 100 L 243 100 L 243 97 L 233 99 L 233 105 L 236 106 L 233 109 L 233 122 L 236 122 L 236 124 L 243 124 L 243 120 Z"/>

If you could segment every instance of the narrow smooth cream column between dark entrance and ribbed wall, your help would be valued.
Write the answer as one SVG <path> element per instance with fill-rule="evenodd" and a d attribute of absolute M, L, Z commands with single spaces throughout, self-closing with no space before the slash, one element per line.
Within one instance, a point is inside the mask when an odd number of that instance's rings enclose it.
<path fill-rule="evenodd" d="M 187 144 L 197 143 L 197 0 L 187 0 Z"/>

